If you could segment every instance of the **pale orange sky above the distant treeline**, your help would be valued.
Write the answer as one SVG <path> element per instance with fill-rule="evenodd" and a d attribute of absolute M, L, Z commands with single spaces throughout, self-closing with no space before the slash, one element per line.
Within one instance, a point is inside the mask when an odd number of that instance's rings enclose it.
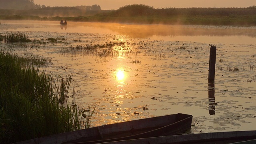
<path fill-rule="evenodd" d="M 146 4 L 154 8 L 230 8 L 256 6 L 256 0 L 34 0 L 45 6 L 92 6 L 100 5 L 102 10 L 116 10 L 130 4 Z"/>

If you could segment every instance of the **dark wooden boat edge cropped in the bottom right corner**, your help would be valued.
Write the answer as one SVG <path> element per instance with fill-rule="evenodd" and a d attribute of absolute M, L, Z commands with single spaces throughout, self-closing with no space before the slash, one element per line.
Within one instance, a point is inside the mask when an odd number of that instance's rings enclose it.
<path fill-rule="evenodd" d="M 256 144 L 256 130 L 159 136 L 101 144 Z"/>

